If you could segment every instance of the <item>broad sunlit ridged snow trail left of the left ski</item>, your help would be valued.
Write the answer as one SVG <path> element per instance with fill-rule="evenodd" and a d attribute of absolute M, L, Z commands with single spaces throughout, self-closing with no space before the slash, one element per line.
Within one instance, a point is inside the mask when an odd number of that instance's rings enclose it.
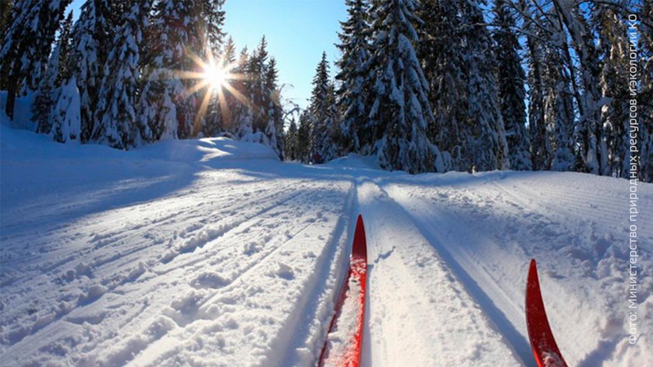
<path fill-rule="evenodd" d="M 29 223 L 8 223 L 3 246 L 25 255 L 15 271 L 3 261 L 3 283 L 22 284 L 3 288 L 3 323 L 13 320 L 2 330 L 3 365 L 24 357 L 93 366 L 309 365 L 348 256 L 355 190 L 347 176 L 271 183 L 208 170 L 168 198 L 65 226 L 56 215 L 39 218 L 48 230 L 37 236 Z M 42 291 L 25 298 L 24 287 Z"/>

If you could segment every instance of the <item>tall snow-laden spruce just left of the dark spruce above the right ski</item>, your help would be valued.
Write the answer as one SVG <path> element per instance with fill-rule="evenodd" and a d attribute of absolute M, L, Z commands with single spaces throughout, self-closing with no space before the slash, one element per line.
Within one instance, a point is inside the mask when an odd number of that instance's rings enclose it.
<path fill-rule="evenodd" d="M 496 57 L 492 38 L 485 24 L 481 4 L 476 0 L 460 3 L 464 26 L 467 78 L 467 116 L 461 122 L 466 129 L 463 161 L 466 170 L 510 168 L 505 128 L 494 76 Z"/>

